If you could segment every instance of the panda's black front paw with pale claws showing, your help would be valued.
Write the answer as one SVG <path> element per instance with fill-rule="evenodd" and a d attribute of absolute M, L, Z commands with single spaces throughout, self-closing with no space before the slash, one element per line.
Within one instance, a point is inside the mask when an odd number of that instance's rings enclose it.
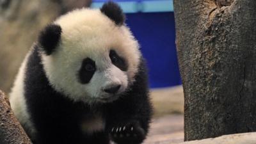
<path fill-rule="evenodd" d="M 139 144 L 143 142 L 146 135 L 139 122 L 112 127 L 109 134 L 111 140 L 117 144 Z"/>

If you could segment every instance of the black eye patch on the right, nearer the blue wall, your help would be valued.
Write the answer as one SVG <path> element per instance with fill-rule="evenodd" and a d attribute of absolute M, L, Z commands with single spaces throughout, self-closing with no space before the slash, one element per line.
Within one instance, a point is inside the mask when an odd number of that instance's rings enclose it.
<path fill-rule="evenodd" d="M 116 51 L 110 50 L 109 58 L 111 59 L 111 62 L 113 63 L 113 65 L 120 68 L 120 70 L 126 71 L 128 69 L 127 63 L 125 62 L 124 58 L 121 58 L 120 56 L 118 56 Z"/>

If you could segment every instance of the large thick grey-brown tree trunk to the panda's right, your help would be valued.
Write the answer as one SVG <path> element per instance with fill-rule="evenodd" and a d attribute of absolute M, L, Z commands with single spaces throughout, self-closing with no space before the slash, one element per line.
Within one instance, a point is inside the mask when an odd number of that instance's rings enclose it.
<path fill-rule="evenodd" d="M 185 140 L 256 131 L 256 1 L 174 0 Z"/>

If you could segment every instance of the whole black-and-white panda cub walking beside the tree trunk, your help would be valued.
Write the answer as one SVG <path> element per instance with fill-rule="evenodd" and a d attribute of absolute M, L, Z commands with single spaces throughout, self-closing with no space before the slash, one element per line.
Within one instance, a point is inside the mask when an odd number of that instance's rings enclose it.
<path fill-rule="evenodd" d="M 152 106 L 138 42 L 113 3 L 61 16 L 40 33 L 10 103 L 35 144 L 142 143 Z"/>

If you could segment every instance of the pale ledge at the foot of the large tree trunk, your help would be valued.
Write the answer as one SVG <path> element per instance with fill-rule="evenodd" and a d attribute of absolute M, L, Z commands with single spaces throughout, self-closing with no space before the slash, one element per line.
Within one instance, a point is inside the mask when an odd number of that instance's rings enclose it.
<path fill-rule="evenodd" d="M 218 138 L 204 140 L 186 141 L 176 144 L 256 144 L 256 132 L 243 134 L 230 134 Z"/>

